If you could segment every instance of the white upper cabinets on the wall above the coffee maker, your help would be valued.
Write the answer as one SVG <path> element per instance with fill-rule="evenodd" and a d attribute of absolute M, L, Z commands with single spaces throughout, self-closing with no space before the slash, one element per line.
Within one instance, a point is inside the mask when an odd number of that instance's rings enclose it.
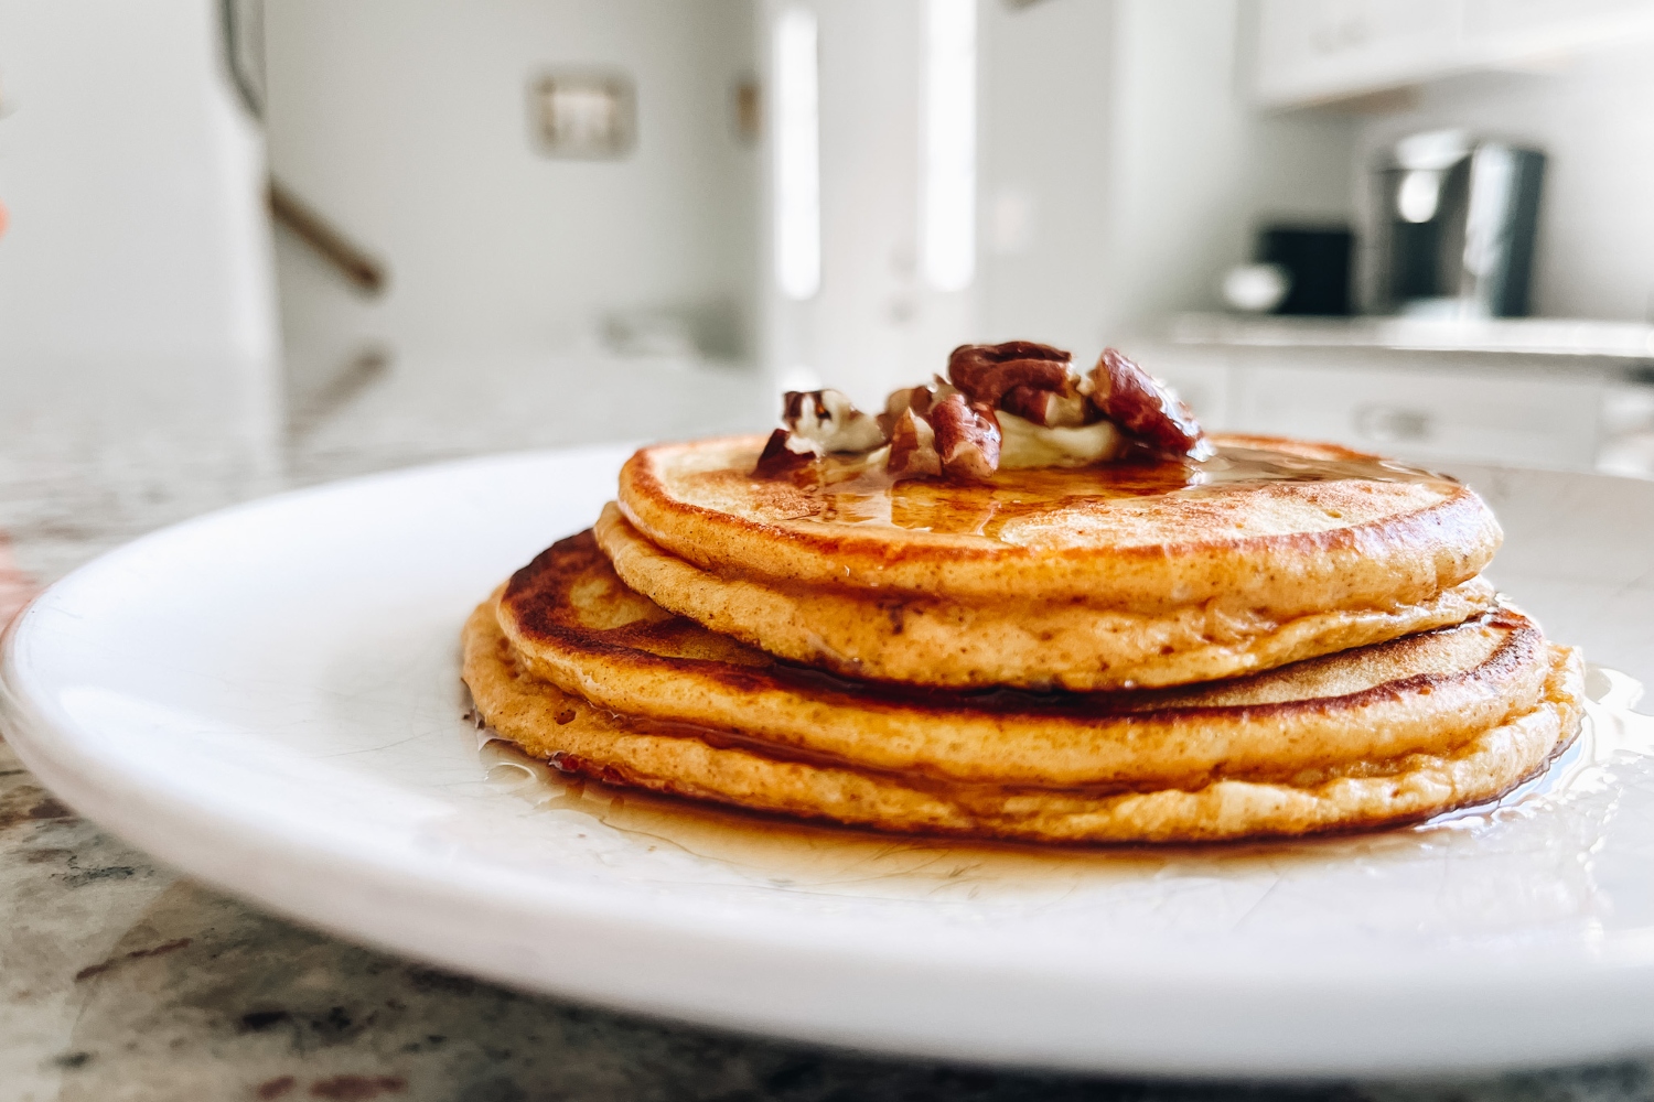
<path fill-rule="evenodd" d="M 1654 0 L 1259 0 L 1255 93 L 1270 107 L 1654 35 Z"/>

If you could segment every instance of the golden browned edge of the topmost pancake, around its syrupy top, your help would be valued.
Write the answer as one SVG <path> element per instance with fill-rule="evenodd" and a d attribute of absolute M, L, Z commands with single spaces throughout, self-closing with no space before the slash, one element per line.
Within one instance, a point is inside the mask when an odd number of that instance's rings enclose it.
<path fill-rule="evenodd" d="M 1265 436 L 1214 436 L 1214 441 L 1290 454 L 1376 458 L 1335 444 Z M 1174 603 L 1221 600 L 1279 615 L 1317 606 L 1414 603 L 1480 573 L 1503 539 L 1482 499 L 1452 482 L 1442 486 L 1444 496 L 1432 506 L 1361 525 L 1057 550 L 984 547 L 981 540 L 860 525 L 764 524 L 680 501 L 667 486 L 670 477 L 663 471 L 695 449 L 756 456 L 761 444 L 762 438 L 753 436 L 643 448 L 620 471 L 620 507 L 650 540 L 718 573 L 963 600 L 1004 593 L 1080 596 L 1150 611 L 1163 608 L 1168 593 L 1176 595 Z"/>

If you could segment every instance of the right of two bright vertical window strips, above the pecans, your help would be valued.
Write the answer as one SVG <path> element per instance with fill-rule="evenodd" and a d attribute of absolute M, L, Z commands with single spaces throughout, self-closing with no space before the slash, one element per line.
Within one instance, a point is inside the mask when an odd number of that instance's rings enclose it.
<path fill-rule="evenodd" d="M 976 0 L 925 0 L 925 281 L 963 291 L 976 276 Z"/>

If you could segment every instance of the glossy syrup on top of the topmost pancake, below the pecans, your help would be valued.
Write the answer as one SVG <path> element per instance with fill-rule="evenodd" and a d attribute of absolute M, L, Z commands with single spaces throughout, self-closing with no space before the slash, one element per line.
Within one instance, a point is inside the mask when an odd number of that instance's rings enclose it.
<path fill-rule="evenodd" d="M 1083 511 L 1088 502 L 1350 479 L 1454 484 L 1442 474 L 1391 459 L 1317 459 L 1234 444 L 1221 446 L 1211 459 L 1138 454 L 1085 468 L 997 471 L 986 482 L 963 484 L 935 477 L 896 481 L 882 466 L 827 456 L 801 471 L 794 484 L 809 499 L 809 512 L 797 520 L 997 539 L 1019 517 Z"/>

